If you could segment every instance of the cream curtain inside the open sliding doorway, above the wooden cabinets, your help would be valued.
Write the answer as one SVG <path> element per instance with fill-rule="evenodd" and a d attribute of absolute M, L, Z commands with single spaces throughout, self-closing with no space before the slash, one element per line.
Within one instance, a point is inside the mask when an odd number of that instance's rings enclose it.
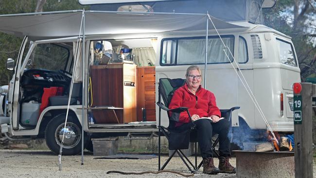
<path fill-rule="evenodd" d="M 137 66 L 154 66 L 156 53 L 154 48 L 133 48 L 132 54 L 135 54 L 135 64 Z"/>

